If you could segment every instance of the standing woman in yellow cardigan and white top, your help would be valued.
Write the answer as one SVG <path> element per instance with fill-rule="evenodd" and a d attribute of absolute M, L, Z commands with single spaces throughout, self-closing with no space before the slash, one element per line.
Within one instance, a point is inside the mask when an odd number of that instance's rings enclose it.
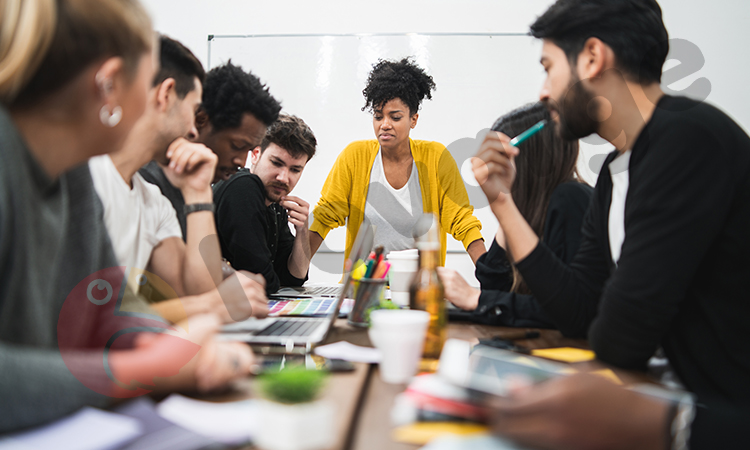
<path fill-rule="evenodd" d="M 422 100 L 432 99 L 434 89 L 432 77 L 409 58 L 380 60 L 373 67 L 362 110 L 373 113 L 376 139 L 352 142 L 331 169 L 313 211 L 313 254 L 331 229 L 346 224 L 348 256 L 364 218 L 376 226 L 376 246 L 386 252 L 414 248 L 412 228 L 423 213 L 440 221 L 440 265 L 446 232 L 464 244 L 473 262 L 485 253 L 482 224 L 455 160 L 444 145 L 409 137 Z"/>

